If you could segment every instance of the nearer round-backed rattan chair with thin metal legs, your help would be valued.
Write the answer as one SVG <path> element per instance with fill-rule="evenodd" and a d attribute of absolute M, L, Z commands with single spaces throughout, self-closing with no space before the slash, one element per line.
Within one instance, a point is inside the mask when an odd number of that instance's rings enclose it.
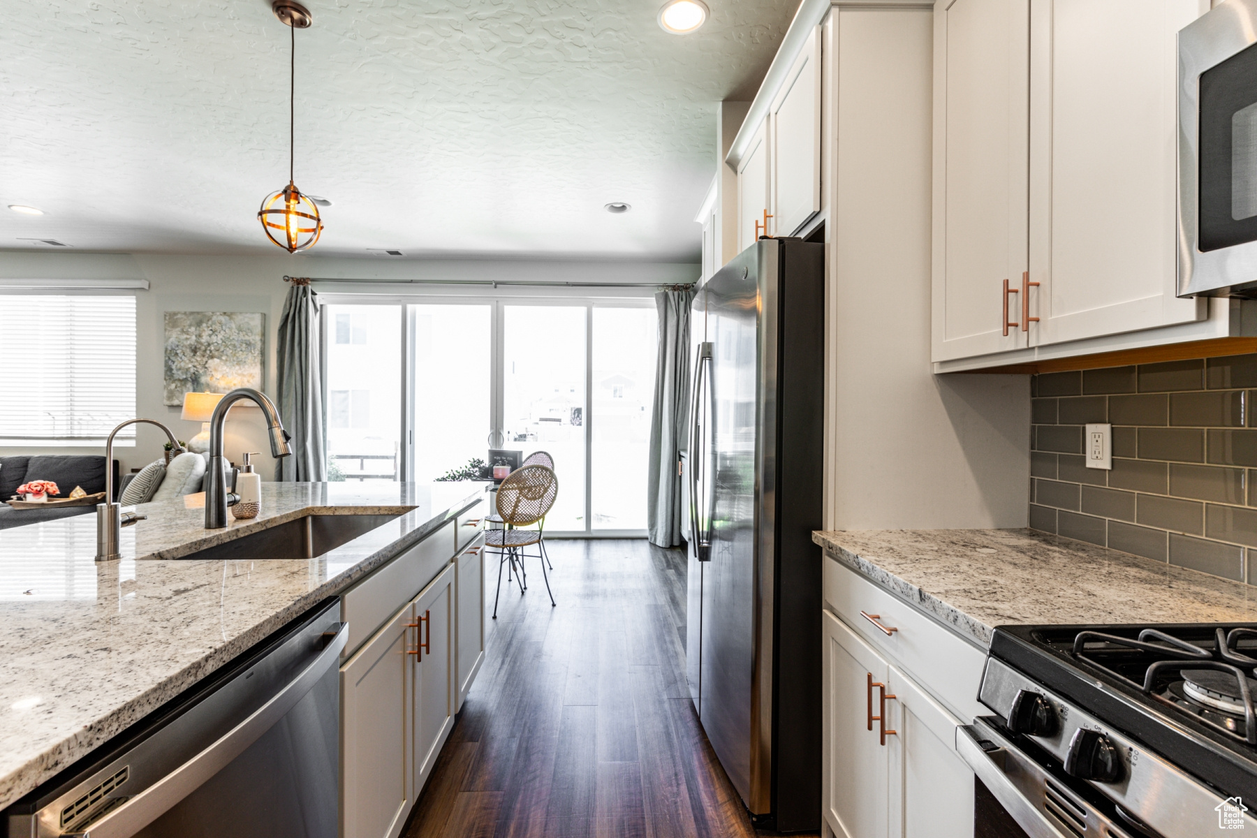
<path fill-rule="evenodd" d="M 507 529 L 485 530 L 484 545 L 498 552 L 498 590 L 493 597 L 493 618 L 498 618 L 498 599 L 502 597 L 502 565 L 509 564 L 519 582 L 519 593 L 528 589 L 528 575 L 524 573 L 524 549 L 529 544 L 542 543 L 546 513 L 558 498 L 558 477 L 554 471 L 542 465 L 520 466 L 510 472 L 498 486 L 498 515 Z M 518 529 L 532 524 L 542 524 L 538 529 Z M 551 606 L 554 606 L 554 593 L 546 573 L 546 559 L 538 548 L 537 558 L 542 565 L 542 578 L 546 579 L 546 593 Z M 517 564 L 518 563 L 518 564 Z M 509 572 L 508 572 L 509 574 Z M 509 578 L 508 578 L 509 582 Z"/>

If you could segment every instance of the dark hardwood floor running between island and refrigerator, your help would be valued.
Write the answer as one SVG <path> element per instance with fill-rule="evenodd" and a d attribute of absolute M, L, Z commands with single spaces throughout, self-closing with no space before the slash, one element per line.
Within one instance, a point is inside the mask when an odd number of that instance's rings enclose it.
<path fill-rule="evenodd" d="M 405 838 L 773 834 L 752 828 L 688 697 L 685 554 L 548 545 L 558 606 L 535 559 L 524 596 L 503 578 L 486 660 Z"/>

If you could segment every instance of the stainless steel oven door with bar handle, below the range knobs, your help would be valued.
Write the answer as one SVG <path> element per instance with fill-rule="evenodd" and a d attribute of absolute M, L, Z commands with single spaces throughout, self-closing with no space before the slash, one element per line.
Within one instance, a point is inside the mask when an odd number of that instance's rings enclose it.
<path fill-rule="evenodd" d="M 977 838 L 1161 838 L 996 719 L 958 727 L 955 745 L 978 779 Z"/>

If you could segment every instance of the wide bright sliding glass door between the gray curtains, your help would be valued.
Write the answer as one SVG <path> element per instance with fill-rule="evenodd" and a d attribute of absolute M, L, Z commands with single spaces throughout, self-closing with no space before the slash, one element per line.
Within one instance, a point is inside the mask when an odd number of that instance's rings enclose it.
<path fill-rule="evenodd" d="M 333 479 L 427 482 L 489 449 L 546 451 L 559 485 L 547 531 L 645 534 L 654 302 L 421 299 L 324 305 Z"/>

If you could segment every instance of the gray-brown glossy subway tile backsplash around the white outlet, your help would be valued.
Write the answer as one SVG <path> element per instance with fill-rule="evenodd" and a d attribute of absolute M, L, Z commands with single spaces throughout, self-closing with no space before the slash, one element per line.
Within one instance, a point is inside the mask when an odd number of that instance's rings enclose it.
<path fill-rule="evenodd" d="M 1257 354 L 1043 373 L 1029 525 L 1257 583 Z M 1087 469 L 1084 425 L 1112 427 Z"/>

